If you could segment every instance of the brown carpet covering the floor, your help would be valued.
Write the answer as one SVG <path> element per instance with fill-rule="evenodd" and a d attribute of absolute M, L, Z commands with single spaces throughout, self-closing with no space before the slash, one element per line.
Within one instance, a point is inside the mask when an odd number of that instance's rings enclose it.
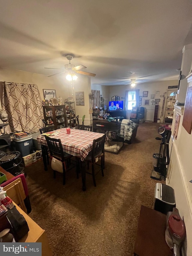
<path fill-rule="evenodd" d="M 152 154 L 159 151 L 157 123 L 139 125 L 133 144 L 124 144 L 116 154 L 106 152 L 104 177 L 81 175 L 75 170 L 53 179 L 43 162 L 26 167 L 32 212 L 29 214 L 46 230 L 54 256 L 133 255 L 140 206 L 152 207 L 155 183 L 150 178 Z"/>

